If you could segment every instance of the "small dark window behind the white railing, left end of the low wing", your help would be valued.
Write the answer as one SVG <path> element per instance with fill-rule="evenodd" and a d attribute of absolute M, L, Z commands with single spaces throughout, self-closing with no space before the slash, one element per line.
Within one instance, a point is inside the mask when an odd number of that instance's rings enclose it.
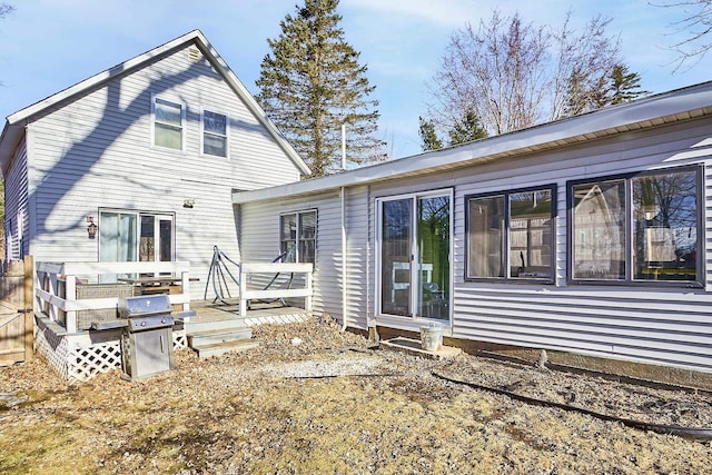
<path fill-rule="evenodd" d="M 279 229 L 285 263 L 315 263 L 316 211 L 281 215 Z"/>

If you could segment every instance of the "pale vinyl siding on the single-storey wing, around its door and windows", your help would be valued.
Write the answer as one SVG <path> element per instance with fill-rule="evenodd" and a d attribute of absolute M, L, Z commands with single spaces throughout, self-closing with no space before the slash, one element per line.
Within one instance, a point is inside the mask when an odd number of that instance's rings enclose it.
<path fill-rule="evenodd" d="M 359 185 L 347 190 L 348 253 L 369 256 L 365 263 L 350 263 L 343 277 L 348 301 L 363 301 L 358 307 L 367 313 L 369 325 L 418 331 L 419 321 L 403 317 L 375 315 L 375 209 L 376 199 L 452 187 L 454 189 L 454 285 L 453 324 L 455 338 L 502 345 L 557 349 L 600 357 L 670 365 L 712 372 L 712 280 L 711 269 L 704 269 L 704 288 L 660 288 L 654 286 L 607 286 L 567 284 L 567 184 L 596 177 L 640 174 L 674 167 L 704 165 L 703 186 L 704 235 L 702 251 L 705 260 L 712 255 L 712 119 L 700 118 L 625 132 L 575 146 L 552 148 L 547 152 L 513 155 L 478 166 L 432 168 L 407 177 L 389 177 L 383 181 Z M 476 145 L 472 146 L 476 148 Z M 466 158 L 467 147 L 452 154 Z M 446 154 L 444 151 L 443 154 Z M 438 152 L 439 154 L 439 152 Z M 425 160 L 426 156 L 413 159 Z M 435 166 L 436 160 L 431 164 Z M 359 170 L 363 175 L 366 170 Z M 359 175 L 359 176 L 360 176 Z M 556 217 L 553 243 L 555 248 L 553 285 L 543 281 L 466 281 L 465 197 L 495 195 L 503 190 L 540 188 L 554 185 Z M 367 191 L 364 191 L 366 190 Z M 318 201 L 318 206 L 315 202 Z M 333 220 L 340 219 L 337 190 L 315 191 L 299 198 L 279 196 L 265 201 L 241 205 L 250 216 L 244 221 L 243 245 L 247 249 L 265 235 L 259 220 L 290 208 L 312 206 L 319 210 L 319 240 L 333 238 L 338 229 Z M 368 209 L 364 209 L 364 204 Z M 307 205 L 308 204 L 308 205 Z M 328 210 L 328 212 L 327 212 Z M 366 212 L 367 211 L 367 212 Z M 356 216 L 358 215 L 358 216 Z M 256 229 L 245 234 L 248 228 Z M 367 228 L 368 236 L 365 236 Z M 327 231 L 330 229 L 332 231 Z M 277 237 L 275 236 L 275 239 Z M 276 243 L 274 245 L 276 247 Z M 323 254 L 319 260 L 338 266 L 337 256 Z M 365 267 L 364 267 L 365 265 Z M 319 268 L 315 286 L 320 288 L 319 308 L 335 305 L 326 289 L 339 296 L 334 277 Z M 336 278 L 340 279 L 338 271 Z M 363 317 L 346 319 L 360 327 Z"/>

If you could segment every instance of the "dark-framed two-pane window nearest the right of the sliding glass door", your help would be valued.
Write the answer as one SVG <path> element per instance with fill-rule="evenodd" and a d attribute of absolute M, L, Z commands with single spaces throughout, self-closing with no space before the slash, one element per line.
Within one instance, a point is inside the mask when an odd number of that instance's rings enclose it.
<path fill-rule="evenodd" d="M 554 280 L 556 187 L 465 198 L 471 279 Z"/>

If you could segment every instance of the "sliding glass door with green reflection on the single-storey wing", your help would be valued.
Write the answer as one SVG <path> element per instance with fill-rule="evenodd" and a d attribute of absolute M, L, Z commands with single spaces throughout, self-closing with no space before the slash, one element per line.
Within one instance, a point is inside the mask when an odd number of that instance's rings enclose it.
<path fill-rule="evenodd" d="M 379 309 L 449 320 L 451 192 L 377 201 Z"/>

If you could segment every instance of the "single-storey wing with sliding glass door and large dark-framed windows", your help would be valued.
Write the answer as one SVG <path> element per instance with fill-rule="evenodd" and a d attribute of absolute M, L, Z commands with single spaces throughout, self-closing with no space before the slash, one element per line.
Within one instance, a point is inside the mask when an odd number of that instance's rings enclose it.
<path fill-rule="evenodd" d="M 710 166 L 712 82 L 234 202 L 344 326 L 712 372 Z"/>

